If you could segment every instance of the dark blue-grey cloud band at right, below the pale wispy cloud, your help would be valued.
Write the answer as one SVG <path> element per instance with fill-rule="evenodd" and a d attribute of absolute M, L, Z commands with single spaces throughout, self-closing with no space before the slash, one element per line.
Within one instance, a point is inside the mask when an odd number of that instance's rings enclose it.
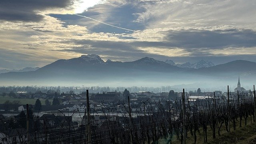
<path fill-rule="evenodd" d="M 167 32 L 166 41 L 170 46 L 182 47 L 191 51 L 193 48 L 222 49 L 226 47 L 255 47 L 254 30 L 180 30 Z"/>

